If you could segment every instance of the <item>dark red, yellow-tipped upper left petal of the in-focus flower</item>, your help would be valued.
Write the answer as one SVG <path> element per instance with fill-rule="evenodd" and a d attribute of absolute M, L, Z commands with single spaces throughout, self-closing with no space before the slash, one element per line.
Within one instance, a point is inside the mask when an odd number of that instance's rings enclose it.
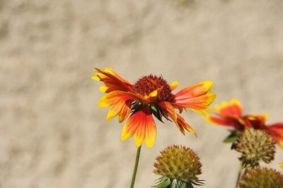
<path fill-rule="evenodd" d="M 108 87 L 105 90 L 105 93 L 110 93 L 113 90 L 122 90 L 122 91 L 130 91 L 132 88 L 132 84 L 120 77 L 110 68 L 102 69 L 93 69 L 96 72 L 96 76 L 92 76 L 91 78 L 96 81 L 103 81 L 105 86 Z"/>

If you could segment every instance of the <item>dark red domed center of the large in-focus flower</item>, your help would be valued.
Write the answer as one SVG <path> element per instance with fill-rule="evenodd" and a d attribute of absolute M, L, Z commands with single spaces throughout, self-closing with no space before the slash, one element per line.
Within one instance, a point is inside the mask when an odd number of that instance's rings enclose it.
<path fill-rule="evenodd" d="M 143 76 L 134 83 L 132 91 L 134 93 L 139 93 L 141 95 L 149 95 L 154 90 L 158 88 L 162 89 L 159 91 L 156 100 L 157 101 L 171 101 L 174 98 L 174 95 L 171 93 L 171 88 L 168 85 L 167 81 L 163 79 L 162 76 Z"/>

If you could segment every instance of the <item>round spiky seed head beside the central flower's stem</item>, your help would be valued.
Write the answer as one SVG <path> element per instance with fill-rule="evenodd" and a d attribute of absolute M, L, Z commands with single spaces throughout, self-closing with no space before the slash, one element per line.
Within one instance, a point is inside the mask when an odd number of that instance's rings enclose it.
<path fill-rule="evenodd" d="M 156 187 L 192 187 L 202 185 L 197 175 L 202 174 L 202 164 L 197 154 L 185 146 L 169 146 L 161 151 L 154 163 L 154 173 L 161 175 Z"/>

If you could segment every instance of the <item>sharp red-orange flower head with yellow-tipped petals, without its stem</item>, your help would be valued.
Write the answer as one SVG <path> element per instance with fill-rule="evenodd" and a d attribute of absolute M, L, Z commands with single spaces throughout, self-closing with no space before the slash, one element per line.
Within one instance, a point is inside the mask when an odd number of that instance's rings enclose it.
<path fill-rule="evenodd" d="M 110 68 L 94 71 L 96 76 L 92 78 L 103 81 L 104 86 L 100 86 L 100 90 L 106 93 L 98 106 L 110 107 L 106 119 L 115 116 L 118 116 L 119 122 L 127 119 L 122 127 L 121 140 L 134 136 L 137 147 L 143 141 L 149 148 L 153 146 L 156 139 L 153 115 L 161 122 L 163 117 L 173 121 L 182 134 L 185 134 L 185 130 L 195 134 L 195 130 L 175 112 L 175 108 L 180 113 L 183 109 L 190 109 L 207 114 L 207 109 L 216 96 L 209 93 L 214 85 L 212 81 L 202 81 L 173 94 L 172 90 L 178 86 L 178 82 L 173 81 L 169 86 L 162 76 L 143 76 L 131 84 Z"/>

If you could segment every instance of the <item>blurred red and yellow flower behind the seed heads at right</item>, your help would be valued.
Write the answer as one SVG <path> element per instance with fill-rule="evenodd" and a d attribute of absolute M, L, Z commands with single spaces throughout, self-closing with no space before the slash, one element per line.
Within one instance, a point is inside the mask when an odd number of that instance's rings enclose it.
<path fill-rule="evenodd" d="M 219 124 L 226 127 L 233 127 L 231 137 L 238 136 L 237 131 L 244 129 L 260 129 L 270 134 L 273 139 L 283 147 L 283 122 L 275 124 L 266 124 L 267 114 L 243 115 L 242 105 L 238 100 L 232 99 L 230 102 L 222 102 L 221 105 L 215 105 L 215 114 L 207 116 L 207 120 L 213 124 Z"/>

